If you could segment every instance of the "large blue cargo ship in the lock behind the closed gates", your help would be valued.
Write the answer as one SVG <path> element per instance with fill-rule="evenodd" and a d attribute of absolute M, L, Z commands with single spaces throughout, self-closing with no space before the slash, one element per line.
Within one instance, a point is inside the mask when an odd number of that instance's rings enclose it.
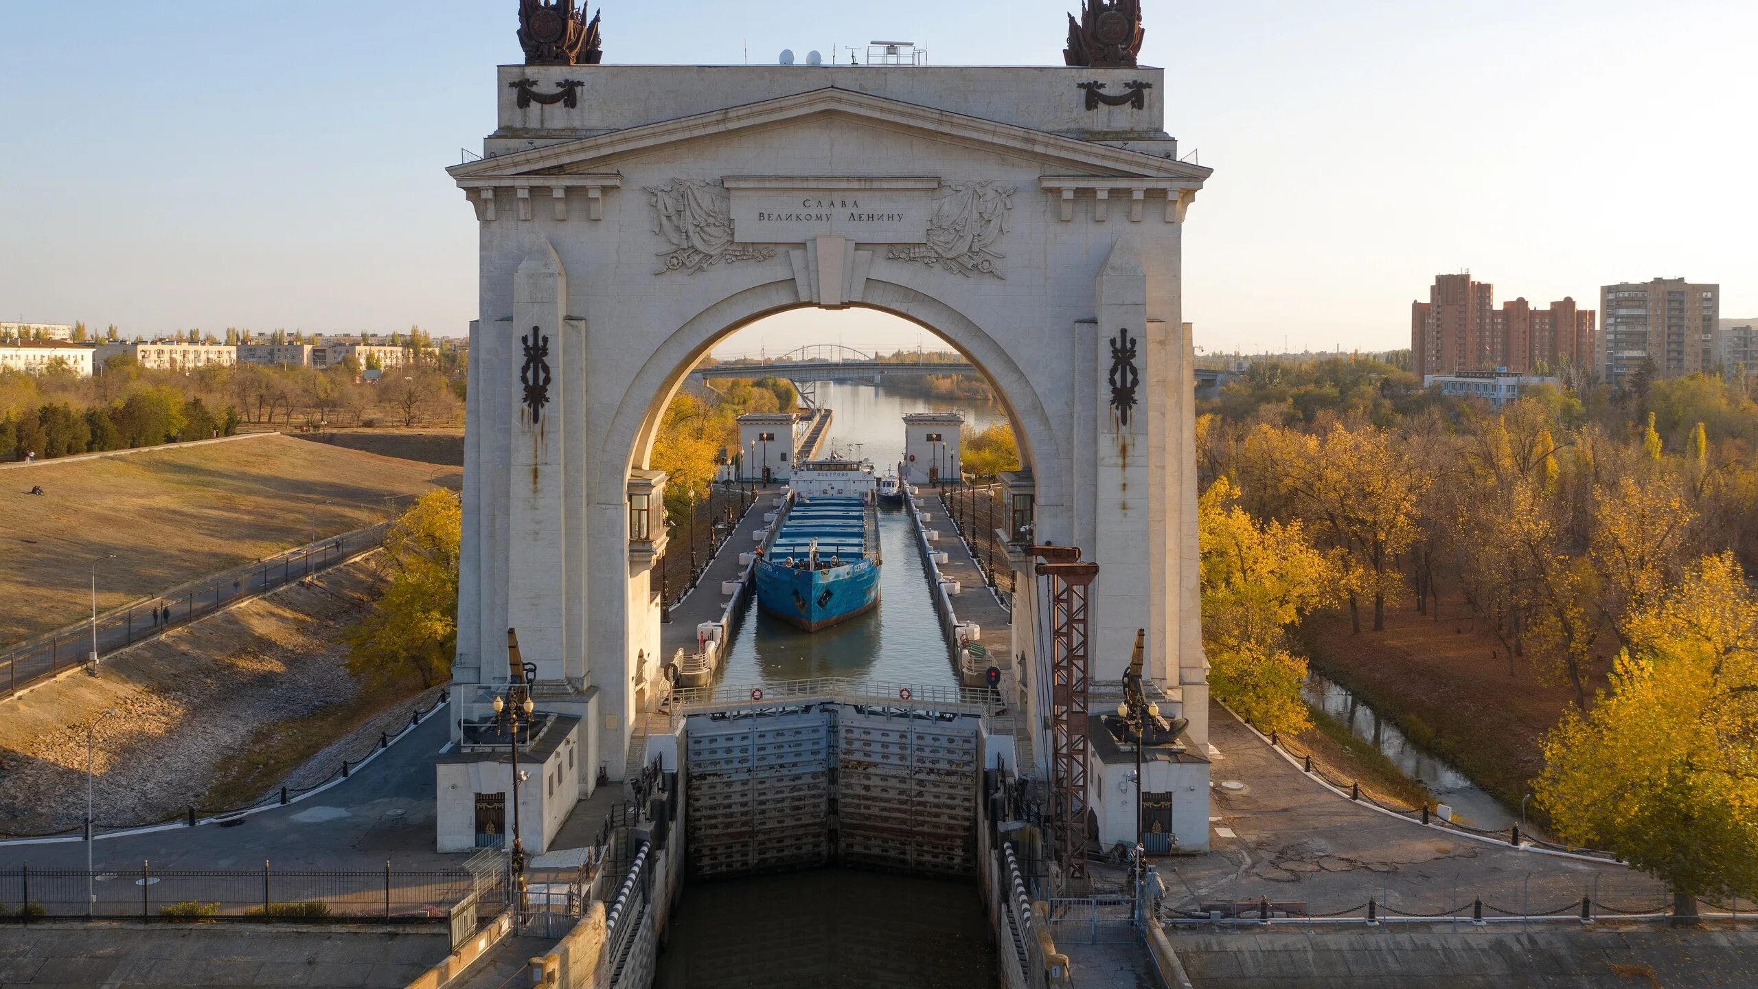
<path fill-rule="evenodd" d="M 781 526 L 756 561 L 758 605 L 807 632 L 879 604 L 879 516 L 872 465 L 807 461 L 788 482 Z"/>

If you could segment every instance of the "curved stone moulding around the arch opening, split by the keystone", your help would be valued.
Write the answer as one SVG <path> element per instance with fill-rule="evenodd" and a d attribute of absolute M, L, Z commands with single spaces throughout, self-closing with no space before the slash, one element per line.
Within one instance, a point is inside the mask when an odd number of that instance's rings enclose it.
<path fill-rule="evenodd" d="M 621 463 L 622 472 L 599 472 L 594 496 L 621 498 L 628 470 L 647 466 L 666 405 L 689 371 L 716 343 L 766 315 L 798 308 L 814 306 L 800 303 L 793 278 L 752 285 L 703 308 L 656 347 L 624 391 L 615 419 L 596 454 L 598 463 L 607 468 Z M 1058 465 L 1064 463 L 1062 440 L 1057 436 L 1030 377 L 1018 366 L 1004 343 L 956 306 L 895 282 L 868 280 L 865 301 L 858 308 L 914 322 L 958 348 L 984 375 L 995 398 L 1007 412 L 1020 443 L 1021 465 L 1035 468 L 1042 477 L 1039 480 L 1041 498 L 1046 503 L 1060 503 L 1060 491 L 1055 486 L 1062 475 L 1058 470 Z"/>

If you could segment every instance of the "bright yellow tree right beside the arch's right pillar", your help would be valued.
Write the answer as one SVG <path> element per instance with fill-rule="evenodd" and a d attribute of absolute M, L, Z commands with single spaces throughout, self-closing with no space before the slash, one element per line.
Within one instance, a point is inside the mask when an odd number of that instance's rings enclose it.
<path fill-rule="evenodd" d="M 1289 626 L 1334 604 L 1340 568 L 1297 519 L 1253 519 L 1238 498 L 1220 477 L 1197 502 L 1210 686 L 1260 730 L 1299 732 L 1311 725 L 1301 699 L 1306 660 L 1289 649 Z"/>

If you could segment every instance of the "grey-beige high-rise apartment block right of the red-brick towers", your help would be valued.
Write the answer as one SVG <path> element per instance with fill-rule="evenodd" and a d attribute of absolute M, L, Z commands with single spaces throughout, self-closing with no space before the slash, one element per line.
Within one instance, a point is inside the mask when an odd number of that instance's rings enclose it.
<path fill-rule="evenodd" d="M 1721 285 L 1695 285 L 1684 278 L 1605 285 L 1600 308 L 1605 311 L 1607 382 L 1626 380 L 1647 361 L 1663 378 L 1716 366 Z"/>

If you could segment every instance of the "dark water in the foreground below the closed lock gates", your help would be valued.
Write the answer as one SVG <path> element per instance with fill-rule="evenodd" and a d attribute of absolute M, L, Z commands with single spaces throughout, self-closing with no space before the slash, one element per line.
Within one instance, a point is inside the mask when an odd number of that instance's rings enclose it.
<path fill-rule="evenodd" d="M 691 883 L 659 989 L 995 985 L 972 882 L 814 869 Z"/>

